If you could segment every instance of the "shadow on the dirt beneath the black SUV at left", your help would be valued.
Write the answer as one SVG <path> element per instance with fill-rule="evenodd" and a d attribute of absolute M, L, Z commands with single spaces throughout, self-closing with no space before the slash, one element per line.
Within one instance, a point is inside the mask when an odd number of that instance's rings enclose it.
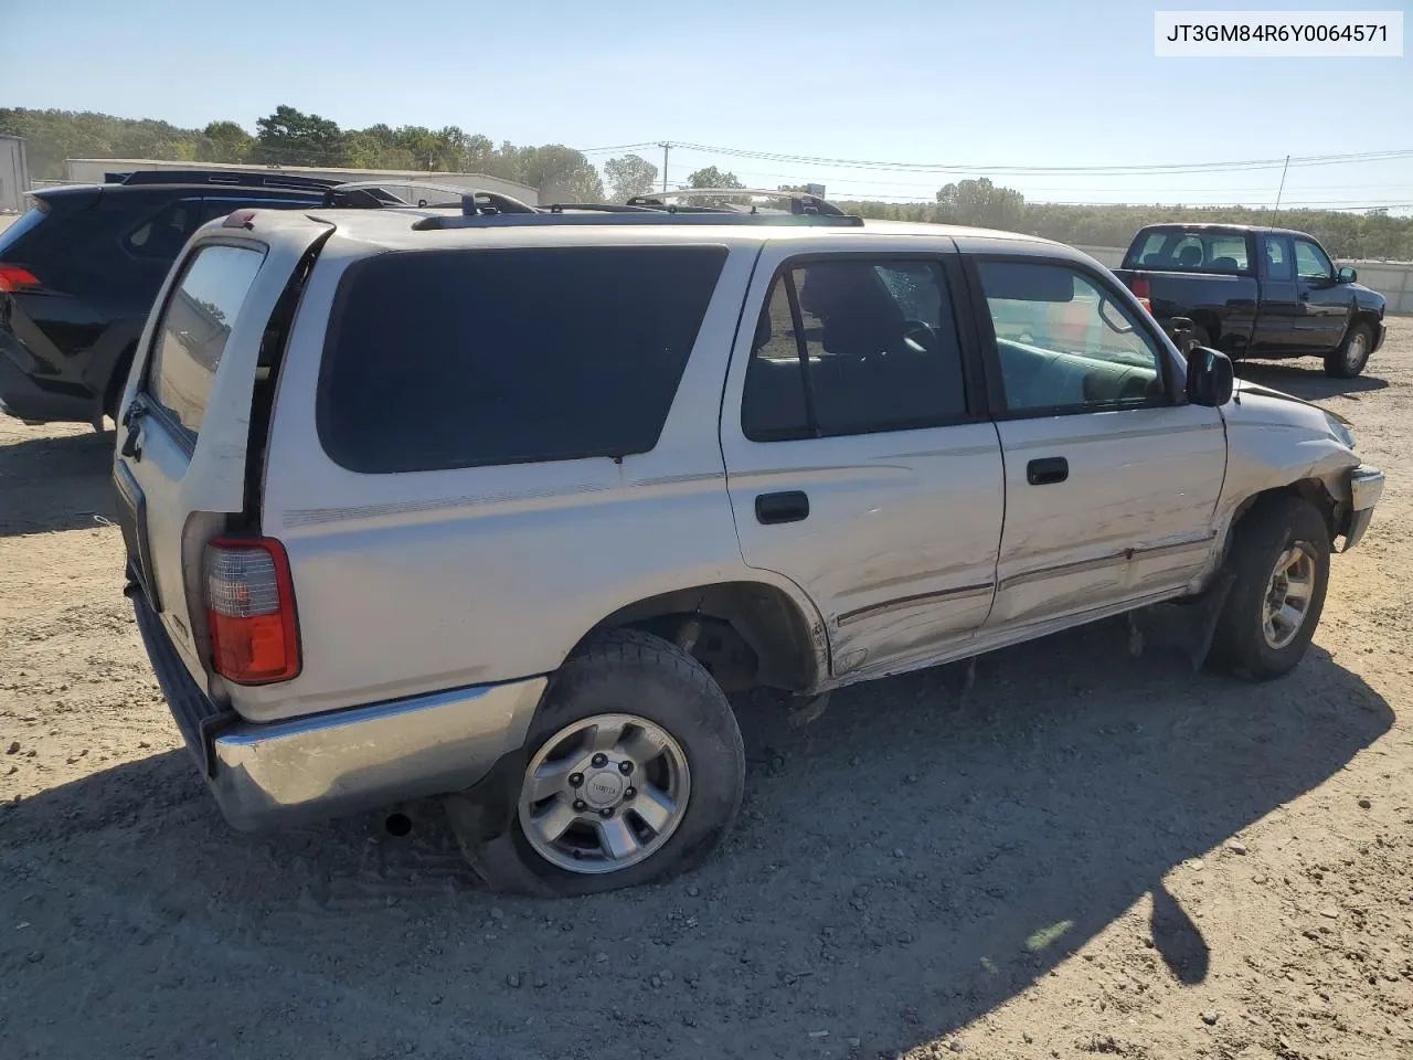
<path fill-rule="evenodd" d="M 0 444 L 0 537 L 113 519 L 112 466 L 112 431 Z"/>

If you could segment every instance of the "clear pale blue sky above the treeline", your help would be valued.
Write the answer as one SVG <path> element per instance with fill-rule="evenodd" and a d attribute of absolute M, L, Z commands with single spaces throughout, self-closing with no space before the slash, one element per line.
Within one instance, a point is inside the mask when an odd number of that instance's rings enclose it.
<path fill-rule="evenodd" d="M 1403 10 L 1413 28 L 1409 3 L 1265 7 Z M 975 167 L 879 171 L 673 153 L 673 179 L 716 163 L 749 185 L 820 181 L 835 198 L 930 198 L 992 165 L 1413 151 L 1413 48 L 1389 59 L 1160 59 L 1156 7 L 1263 4 L 0 0 L 0 105 L 184 126 L 232 119 L 253 130 L 288 103 L 343 126 L 458 124 L 496 141 L 674 140 Z M 644 154 L 661 164 L 660 150 Z M 1041 201 L 1269 204 L 1280 171 L 995 179 Z M 1413 202 L 1413 154 L 1296 165 L 1284 201 Z"/>

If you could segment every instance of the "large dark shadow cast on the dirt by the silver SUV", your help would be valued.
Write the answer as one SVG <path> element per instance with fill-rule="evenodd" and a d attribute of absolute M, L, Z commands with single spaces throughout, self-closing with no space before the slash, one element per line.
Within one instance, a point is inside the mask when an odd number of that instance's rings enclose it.
<path fill-rule="evenodd" d="M 612 1035 L 625 1057 L 872 1057 L 951 1035 L 1116 920 L 1152 974 L 1200 984 L 1228 941 L 1166 876 L 1208 856 L 1219 879 L 1238 855 L 1208 851 L 1243 830 L 1255 864 L 1252 825 L 1393 718 L 1323 650 L 1252 685 L 1133 659 L 1118 623 L 944 683 L 845 690 L 803 729 L 745 701 L 726 849 L 582 900 L 486 893 L 435 804 L 406 840 L 370 820 L 235 834 L 182 752 L 44 791 L 0 814 L 0 913 L 49 941 L 25 964 L 10 931 L 0 967 L 17 996 L 85 1003 L 49 1026 L 17 1015 L 7 1040 L 578 1057 Z"/>

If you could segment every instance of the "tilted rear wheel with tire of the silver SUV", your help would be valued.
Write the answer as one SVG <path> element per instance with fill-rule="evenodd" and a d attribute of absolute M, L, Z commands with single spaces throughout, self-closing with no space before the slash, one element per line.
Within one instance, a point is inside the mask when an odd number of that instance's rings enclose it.
<path fill-rule="evenodd" d="M 592 766 L 588 755 L 605 750 L 595 735 L 612 739 L 617 726 L 622 736 L 603 755 L 608 760 Z M 666 742 L 656 743 L 658 736 Z M 636 746 L 658 756 L 636 755 Z M 608 633 L 560 669 L 524 750 L 520 767 L 506 776 L 510 824 L 500 835 L 482 840 L 478 815 L 456 797 L 448 800 L 462 852 L 496 890 L 572 897 L 663 881 L 701 864 L 740 810 L 746 752 L 731 702 L 687 652 L 639 630 Z M 627 759 L 632 773 L 622 772 Z M 615 784 L 619 793 L 610 790 Z M 547 787 L 547 799 L 533 799 Z M 596 803 L 610 814 L 595 811 Z M 668 804 L 671 815 L 663 810 Z M 555 827 L 538 823 L 555 814 L 574 821 L 560 838 L 547 838 Z M 651 828 L 649 817 L 663 827 Z M 608 830 L 629 854 L 609 852 Z"/>

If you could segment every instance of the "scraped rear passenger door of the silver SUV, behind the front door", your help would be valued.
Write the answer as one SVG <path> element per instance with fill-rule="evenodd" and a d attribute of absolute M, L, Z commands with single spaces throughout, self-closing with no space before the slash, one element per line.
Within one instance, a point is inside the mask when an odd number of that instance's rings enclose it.
<path fill-rule="evenodd" d="M 721 423 L 742 555 L 815 601 L 836 676 L 969 637 L 991 609 L 1003 516 L 951 240 L 845 247 L 858 242 L 763 250 Z"/>

